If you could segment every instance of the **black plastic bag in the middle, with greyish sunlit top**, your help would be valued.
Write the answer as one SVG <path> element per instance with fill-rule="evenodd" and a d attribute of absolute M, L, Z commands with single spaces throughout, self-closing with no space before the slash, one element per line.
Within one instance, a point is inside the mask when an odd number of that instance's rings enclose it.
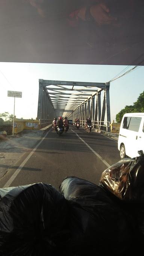
<path fill-rule="evenodd" d="M 77 177 L 66 177 L 59 191 L 69 200 L 69 248 L 74 255 L 129 253 L 136 224 L 119 199 Z"/>

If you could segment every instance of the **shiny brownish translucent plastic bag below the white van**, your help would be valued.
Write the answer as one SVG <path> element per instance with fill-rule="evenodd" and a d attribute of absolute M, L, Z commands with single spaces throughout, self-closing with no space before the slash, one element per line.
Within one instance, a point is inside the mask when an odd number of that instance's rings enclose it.
<path fill-rule="evenodd" d="M 125 158 L 107 168 L 101 176 L 100 186 L 121 200 L 144 203 L 144 154 Z"/>

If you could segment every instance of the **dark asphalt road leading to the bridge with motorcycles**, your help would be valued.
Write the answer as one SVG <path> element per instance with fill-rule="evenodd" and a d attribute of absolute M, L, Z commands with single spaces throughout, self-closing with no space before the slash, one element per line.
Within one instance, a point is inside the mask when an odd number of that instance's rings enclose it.
<path fill-rule="evenodd" d="M 89 134 L 74 126 L 61 136 L 49 130 L 34 153 L 29 154 L 27 152 L 7 172 L 0 181 L 0 187 L 10 180 L 8 186 L 44 182 L 58 189 L 66 176 L 77 176 L 98 184 L 102 172 L 120 160 L 117 141 L 100 133 Z M 15 171 L 25 159 L 26 163 L 12 181 Z"/>

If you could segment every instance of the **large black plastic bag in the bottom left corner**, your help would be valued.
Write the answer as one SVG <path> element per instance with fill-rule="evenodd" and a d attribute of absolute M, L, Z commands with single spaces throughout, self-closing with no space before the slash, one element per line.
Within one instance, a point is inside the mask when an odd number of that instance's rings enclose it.
<path fill-rule="evenodd" d="M 0 255 L 58 255 L 68 239 L 63 195 L 43 183 L 0 190 Z"/>

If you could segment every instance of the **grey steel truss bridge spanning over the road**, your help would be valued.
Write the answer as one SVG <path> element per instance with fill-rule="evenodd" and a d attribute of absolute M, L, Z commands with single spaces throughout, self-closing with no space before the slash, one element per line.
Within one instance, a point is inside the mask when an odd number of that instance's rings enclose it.
<path fill-rule="evenodd" d="M 101 100 L 103 92 L 103 102 Z M 47 126 L 54 117 L 81 120 L 87 117 L 93 128 L 110 131 L 110 82 L 70 82 L 39 79 L 37 119 L 40 127 Z"/>

